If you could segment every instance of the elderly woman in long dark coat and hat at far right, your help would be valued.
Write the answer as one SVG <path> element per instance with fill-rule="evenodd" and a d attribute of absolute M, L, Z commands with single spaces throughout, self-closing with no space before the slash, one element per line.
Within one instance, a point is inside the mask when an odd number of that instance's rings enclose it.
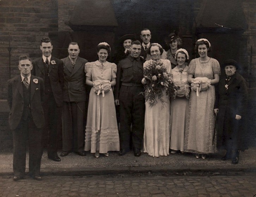
<path fill-rule="evenodd" d="M 237 164 L 239 151 L 247 148 L 242 125 L 248 93 L 244 78 L 237 72 L 238 63 L 231 59 L 225 61 L 222 67 L 226 74 L 220 77 L 214 106 L 214 113 L 217 115 L 218 144 L 227 151 L 221 159 L 232 159 L 232 164 Z"/>

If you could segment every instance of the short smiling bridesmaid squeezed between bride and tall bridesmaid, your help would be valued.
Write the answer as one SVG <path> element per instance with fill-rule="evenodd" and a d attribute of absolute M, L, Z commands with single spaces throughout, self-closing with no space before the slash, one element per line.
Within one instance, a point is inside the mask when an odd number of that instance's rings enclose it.
<path fill-rule="evenodd" d="M 189 55 L 185 49 L 178 49 L 176 51 L 175 59 L 177 66 L 172 69 L 172 80 L 175 85 L 175 97 L 171 98 L 171 138 L 170 149 L 171 153 L 175 154 L 177 151 L 183 152 L 184 133 L 186 125 L 186 116 L 188 113 L 188 98 L 189 98 L 189 84 L 188 84 L 188 62 Z"/>

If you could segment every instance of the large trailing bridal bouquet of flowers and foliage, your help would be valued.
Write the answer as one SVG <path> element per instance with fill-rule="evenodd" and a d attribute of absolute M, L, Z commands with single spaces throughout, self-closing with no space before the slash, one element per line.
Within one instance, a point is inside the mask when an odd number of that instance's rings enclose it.
<path fill-rule="evenodd" d="M 163 94 L 172 96 L 175 92 L 171 75 L 165 65 L 160 61 L 150 61 L 144 68 L 145 99 L 150 106 L 154 106 L 158 100 L 164 104 Z"/>

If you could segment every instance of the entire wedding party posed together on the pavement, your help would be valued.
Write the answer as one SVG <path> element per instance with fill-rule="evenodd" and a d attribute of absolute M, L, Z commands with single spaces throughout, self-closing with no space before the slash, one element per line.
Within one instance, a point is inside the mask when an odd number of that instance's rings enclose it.
<path fill-rule="evenodd" d="M 247 102 L 245 80 L 236 71 L 239 64 L 226 61 L 220 77 L 219 62 L 208 56 L 211 43 L 207 39 L 196 41 L 200 57 L 188 64 L 189 55 L 181 48 L 177 31 L 165 38 L 170 46 L 167 52 L 160 44 L 150 43 L 150 30 L 142 30 L 140 37 L 142 43 L 133 34 L 121 37 L 113 63 L 107 61 L 111 48 L 106 42 L 97 45 L 95 62 L 79 57 L 76 42 L 69 44 L 68 57 L 57 59 L 51 56 L 48 37 L 41 40 L 42 57 L 31 61 L 20 56 L 20 75 L 8 81 L 14 180 L 25 174 L 27 139 L 29 174 L 34 179 L 42 180 L 44 147 L 49 159 L 61 161 L 56 143 L 61 124 L 61 157 L 71 152 L 85 156 L 86 151 L 96 158 L 108 157 L 109 151 L 124 155 L 132 149 L 135 156 L 143 152 L 166 156 L 171 150 L 205 159 L 217 152 L 218 144 L 227 150 L 223 160 L 238 163 L 239 151 L 246 148 L 240 128 Z M 149 87 L 144 71 L 152 65 L 163 66 L 163 75 L 175 89 L 173 94 L 161 90 L 154 105 L 144 94 Z M 85 121 L 86 85 L 91 90 Z"/>

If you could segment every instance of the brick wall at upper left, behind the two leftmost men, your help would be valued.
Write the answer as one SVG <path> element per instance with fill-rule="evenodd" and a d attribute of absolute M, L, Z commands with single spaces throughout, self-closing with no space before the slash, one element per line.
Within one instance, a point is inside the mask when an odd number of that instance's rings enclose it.
<path fill-rule="evenodd" d="M 0 99 L 6 99 L 6 81 L 10 78 L 9 42 L 13 77 L 19 73 L 18 57 L 24 53 L 31 58 L 38 57 L 40 39 L 58 31 L 57 10 L 57 0 L 0 0 Z"/>

